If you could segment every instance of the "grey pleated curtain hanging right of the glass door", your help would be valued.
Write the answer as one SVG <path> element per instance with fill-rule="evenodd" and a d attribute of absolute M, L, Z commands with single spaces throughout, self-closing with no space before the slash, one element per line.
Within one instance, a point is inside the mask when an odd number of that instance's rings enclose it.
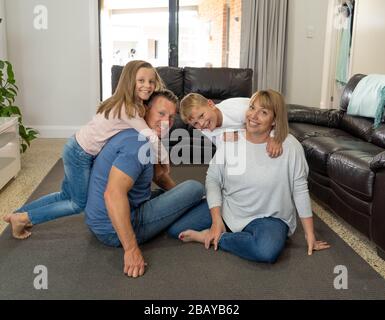
<path fill-rule="evenodd" d="M 254 70 L 253 92 L 282 91 L 287 1 L 242 1 L 240 67 Z"/>

